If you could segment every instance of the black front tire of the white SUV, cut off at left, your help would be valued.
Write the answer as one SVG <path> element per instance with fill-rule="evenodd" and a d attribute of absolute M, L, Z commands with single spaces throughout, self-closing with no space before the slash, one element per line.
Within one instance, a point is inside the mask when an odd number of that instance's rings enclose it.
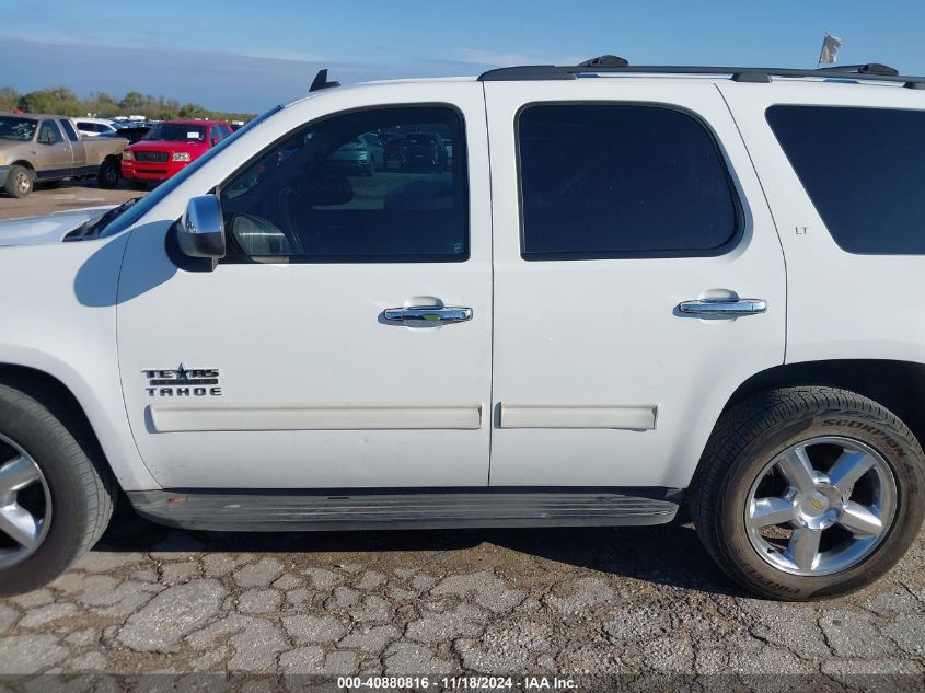
<path fill-rule="evenodd" d="M 0 518 L 0 596 L 54 580 L 99 541 L 112 516 L 115 481 L 86 424 L 72 412 L 72 404 L 35 383 L 0 384 L 3 510 L 11 512 L 12 499 L 42 519 L 28 532 L 35 546 L 26 547 Z M 13 464 L 20 472 L 15 484 L 9 481 Z"/>

